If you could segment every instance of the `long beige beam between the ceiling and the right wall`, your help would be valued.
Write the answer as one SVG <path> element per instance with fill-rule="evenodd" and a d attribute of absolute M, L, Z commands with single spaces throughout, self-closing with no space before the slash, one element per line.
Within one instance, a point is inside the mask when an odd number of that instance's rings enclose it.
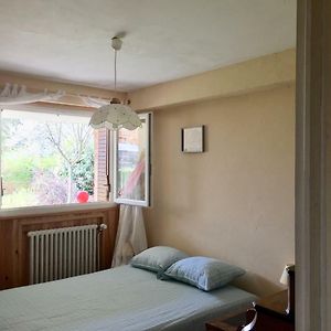
<path fill-rule="evenodd" d="M 163 108 L 266 89 L 296 79 L 296 50 L 260 56 L 128 93 L 136 110 Z"/>

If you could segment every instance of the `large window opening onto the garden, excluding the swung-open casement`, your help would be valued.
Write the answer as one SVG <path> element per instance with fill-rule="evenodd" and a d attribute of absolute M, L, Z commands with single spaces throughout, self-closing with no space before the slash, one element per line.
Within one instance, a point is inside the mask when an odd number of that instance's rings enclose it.
<path fill-rule="evenodd" d="M 107 200 L 107 135 L 94 132 L 88 120 L 1 111 L 2 209 Z"/>

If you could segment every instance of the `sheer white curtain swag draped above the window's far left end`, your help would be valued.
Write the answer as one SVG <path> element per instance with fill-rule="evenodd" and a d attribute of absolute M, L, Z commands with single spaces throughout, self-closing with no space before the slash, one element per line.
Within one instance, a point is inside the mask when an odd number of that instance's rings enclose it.
<path fill-rule="evenodd" d="M 65 95 L 65 92 L 49 93 L 46 89 L 41 93 L 29 93 L 24 85 L 7 83 L 0 90 L 0 106 L 24 105 L 38 102 L 57 100 Z"/>

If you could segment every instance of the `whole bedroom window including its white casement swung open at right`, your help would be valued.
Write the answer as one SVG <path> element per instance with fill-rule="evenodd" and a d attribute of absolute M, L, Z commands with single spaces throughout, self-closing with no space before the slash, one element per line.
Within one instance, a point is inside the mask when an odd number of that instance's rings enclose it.
<path fill-rule="evenodd" d="M 1 209 L 109 200 L 149 206 L 151 114 L 139 117 L 141 128 L 111 136 L 88 126 L 89 111 L 2 109 Z"/>

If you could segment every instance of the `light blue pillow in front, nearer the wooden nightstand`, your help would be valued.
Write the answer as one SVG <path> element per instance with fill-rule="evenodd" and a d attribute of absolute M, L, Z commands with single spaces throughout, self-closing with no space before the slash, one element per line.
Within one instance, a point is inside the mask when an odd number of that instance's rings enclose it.
<path fill-rule="evenodd" d="M 245 270 L 223 263 L 215 258 L 204 256 L 193 256 L 181 259 L 170 266 L 161 276 L 161 279 L 173 278 L 188 282 L 202 289 L 211 291 L 232 281 Z"/>

